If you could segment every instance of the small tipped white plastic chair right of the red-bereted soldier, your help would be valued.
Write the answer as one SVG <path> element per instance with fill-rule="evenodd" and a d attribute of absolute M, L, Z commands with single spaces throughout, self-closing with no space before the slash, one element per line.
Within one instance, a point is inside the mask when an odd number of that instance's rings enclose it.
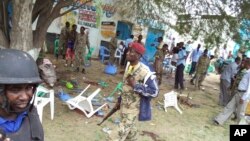
<path fill-rule="evenodd" d="M 174 107 L 180 114 L 182 114 L 181 109 L 178 106 L 177 93 L 171 91 L 164 94 L 164 109 L 167 112 L 167 107 Z"/>

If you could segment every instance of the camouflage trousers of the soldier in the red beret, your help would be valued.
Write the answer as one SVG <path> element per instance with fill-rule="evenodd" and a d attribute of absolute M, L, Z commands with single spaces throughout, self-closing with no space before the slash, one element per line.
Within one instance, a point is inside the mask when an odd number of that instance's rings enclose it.
<path fill-rule="evenodd" d="M 137 141 L 138 131 L 135 125 L 136 120 L 136 113 L 123 113 L 119 126 L 112 130 L 107 141 Z"/>

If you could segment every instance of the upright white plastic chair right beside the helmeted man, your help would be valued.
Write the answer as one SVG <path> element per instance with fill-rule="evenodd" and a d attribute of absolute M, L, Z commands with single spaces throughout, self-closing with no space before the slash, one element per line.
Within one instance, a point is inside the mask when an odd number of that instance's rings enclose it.
<path fill-rule="evenodd" d="M 44 96 L 39 96 L 39 93 L 44 93 Z M 48 103 L 50 104 L 50 114 L 51 114 L 51 120 L 54 119 L 54 90 L 48 90 L 43 86 L 38 86 L 35 93 L 35 100 L 34 100 L 34 106 L 37 108 L 37 113 L 39 115 L 39 119 L 42 122 L 43 117 L 43 108 Z"/>

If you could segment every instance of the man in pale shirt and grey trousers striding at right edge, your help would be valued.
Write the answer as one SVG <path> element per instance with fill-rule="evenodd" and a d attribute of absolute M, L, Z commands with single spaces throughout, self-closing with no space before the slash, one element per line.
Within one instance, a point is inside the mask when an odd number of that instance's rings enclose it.
<path fill-rule="evenodd" d="M 247 105 L 247 100 L 250 99 L 250 59 L 244 61 L 244 67 L 247 69 L 242 77 L 238 92 L 235 93 L 230 102 L 226 105 L 224 110 L 214 118 L 217 125 L 222 125 L 233 113 L 236 113 L 238 122 L 244 116 L 244 111 Z"/>

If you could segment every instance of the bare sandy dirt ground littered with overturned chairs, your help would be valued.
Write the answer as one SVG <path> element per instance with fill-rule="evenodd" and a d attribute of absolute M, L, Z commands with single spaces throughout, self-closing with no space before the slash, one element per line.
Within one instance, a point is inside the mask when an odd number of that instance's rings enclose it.
<path fill-rule="evenodd" d="M 118 82 L 122 80 L 122 74 L 107 75 L 103 72 L 105 65 L 99 60 L 92 60 L 92 65 L 87 68 L 86 74 L 74 72 L 71 67 L 64 67 L 62 59 L 55 60 L 52 55 L 46 55 L 47 58 L 57 66 L 56 71 L 59 78 L 55 86 L 63 86 L 61 80 L 77 80 L 79 88 L 85 88 L 87 83 L 84 81 L 98 82 L 100 80 L 109 84 L 108 87 L 101 90 L 99 97 L 108 96 Z M 139 136 L 138 141 L 226 141 L 229 140 L 229 125 L 234 121 L 228 120 L 224 126 L 216 126 L 212 119 L 222 110 L 218 105 L 219 97 L 219 76 L 209 74 L 204 82 L 204 90 L 195 90 L 193 85 L 189 84 L 190 77 L 185 77 L 186 90 L 182 93 L 189 94 L 192 98 L 189 102 L 194 106 L 180 104 L 183 114 L 179 114 L 174 108 L 169 107 L 165 112 L 162 103 L 164 93 L 170 92 L 173 88 L 174 79 L 163 77 L 163 83 L 160 86 L 160 94 L 152 100 L 152 117 L 148 122 L 138 122 Z M 93 92 L 97 87 L 92 85 L 87 93 Z M 72 97 L 76 96 L 72 90 L 63 89 Z M 104 108 L 104 113 L 109 109 Z M 112 121 L 119 117 L 113 115 L 103 125 L 98 126 L 102 117 L 92 116 L 87 118 L 83 113 L 70 110 L 59 98 L 55 98 L 55 117 L 50 119 L 49 106 L 46 106 L 43 114 L 43 127 L 46 141 L 105 141 L 107 134 L 103 128 L 112 129 L 116 126 Z"/>

